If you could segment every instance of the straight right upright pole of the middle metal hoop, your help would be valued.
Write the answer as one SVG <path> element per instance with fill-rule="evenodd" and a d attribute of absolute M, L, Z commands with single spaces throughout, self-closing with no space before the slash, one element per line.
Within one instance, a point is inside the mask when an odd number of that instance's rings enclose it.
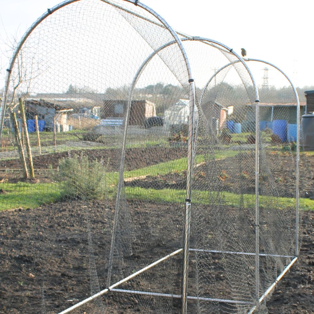
<path fill-rule="evenodd" d="M 259 304 L 259 100 L 255 101 L 255 300 Z"/>

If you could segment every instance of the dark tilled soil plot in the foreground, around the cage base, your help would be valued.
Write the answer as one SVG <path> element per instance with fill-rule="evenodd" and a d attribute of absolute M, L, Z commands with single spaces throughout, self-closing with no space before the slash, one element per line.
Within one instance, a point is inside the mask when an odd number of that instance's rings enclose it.
<path fill-rule="evenodd" d="M 183 222 L 182 212 L 173 214 L 171 206 L 164 204 L 164 210 L 160 211 L 160 205 L 154 203 L 129 202 L 133 225 L 138 226 L 138 233 L 132 241 L 122 241 L 130 233 L 127 232 L 128 224 L 121 229 L 119 239 L 122 240 L 119 242 L 117 239 L 117 243 L 132 242 L 133 247 L 121 248 L 123 258 L 119 263 L 114 260 L 111 282 L 181 247 L 181 227 L 173 229 L 176 231 L 170 236 L 165 236 L 168 224 L 180 226 Z M 112 215 L 113 204 L 78 201 L 1 212 L 0 312 L 58 313 L 91 293 L 104 289 Z M 158 224 L 158 221 L 164 221 L 164 224 Z M 168 223 L 165 224 L 165 221 Z M 154 234 L 151 234 L 152 228 L 149 227 L 152 225 L 158 226 Z M 303 213 L 300 230 L 303 243 L 299 261 L 279 282 L 267 302 L 271 314 L 313 313 L 314 212 Z M 224 289 L 226 278 L 224 269 L 219 266 L 221 260 L 214 260 L 217 272 L 214 275 L 219 278 L 218 284 L 221 283 L 219 289 Z M 149 283 L 153 282 L 167 293 L 180 294 L 181 254 L 160 266 L 159 272 L 155 272 L 157 268 L 154 268 L 119 288 L 147 289 Z M 166 273 L 170 274 L 169 277 L 163 275 Z M 193 284 L 193 273 L 190 273 L 190 282 Z M 227 291 L 219 290 L 218 293 L 224 295 Z M 141 300 L 144 302 L 140 303 Z M 100 313 L 97 308 L 107 309 L 105 313 L 154 313 L 150 308 L 160 311 L 162 307 L 163 313 L 180 312 L 180 300 L 161 300 L 111 293 L 74 313 Z M 193 304 L 189 306 L 190 313 L 196 313 Z M 219 313 L 219 306 L 210 312 Z"/>

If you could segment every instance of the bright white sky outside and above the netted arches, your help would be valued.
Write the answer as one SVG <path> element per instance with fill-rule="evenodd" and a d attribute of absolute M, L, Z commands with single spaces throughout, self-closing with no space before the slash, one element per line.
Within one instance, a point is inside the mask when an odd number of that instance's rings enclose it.
<path fill-rule="evenodd" d="M 0 86 L 19 39 L 58 0 L 0 0 Z M 313 0 L 143 0 L 174 29 L 219 41 L 281 68 L 295 86 L 314 85 Z M 249 64 L 248 64 L 249 65 Z"/>

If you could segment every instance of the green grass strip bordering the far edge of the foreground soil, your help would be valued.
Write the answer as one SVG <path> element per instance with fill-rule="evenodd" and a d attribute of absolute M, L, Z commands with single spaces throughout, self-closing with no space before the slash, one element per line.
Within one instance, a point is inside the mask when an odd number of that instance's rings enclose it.
<path fill-rule="evenodd" d="M 0 210 L 19 207 L 36 208 L 43 204 L 54 203 L 62 196 L 60 186 L 56 183 L 2 183 L 0 188 L 5 191 L 5 193 L 0 194 Z M 186 198 L 186 191 L 178 189 L 155 190 L 151 188 L 126 187 L 125 192 L 128 199 L 163 203 L 184 203 Z M 112 189 L 107 191 L 107 193 L 109 198 L 114 198 Z M 206 205 L 209 203 L 209 200 L 217 204 L 224 203 L 230 207 L 240 206 L 240 195 L 235 193 L 194 191 L 192 195 L 192 202 Z M 259 196 L 259 202 L 260 208 L 273 207 L 283 210 L 295 208 L 294 198 Z M 255 196 L 253 194 L 244 194 L 243 206 L 244 208 L 254 208 Z M 308 198 L 300 198 L 300 210 L 314 210 L 314 201 Z"/>

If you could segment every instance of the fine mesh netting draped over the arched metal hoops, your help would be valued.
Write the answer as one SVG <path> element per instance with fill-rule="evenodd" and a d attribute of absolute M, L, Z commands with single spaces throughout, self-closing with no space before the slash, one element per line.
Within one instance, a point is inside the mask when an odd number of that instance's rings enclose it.
<path fill-rule="evenodd" d="M 267 313 L 298 250 L 295 94 L 263 79 L 256 111 L 232 50 L 135 4 L 62 3 L 14 54 L 1 311 Z"/>

